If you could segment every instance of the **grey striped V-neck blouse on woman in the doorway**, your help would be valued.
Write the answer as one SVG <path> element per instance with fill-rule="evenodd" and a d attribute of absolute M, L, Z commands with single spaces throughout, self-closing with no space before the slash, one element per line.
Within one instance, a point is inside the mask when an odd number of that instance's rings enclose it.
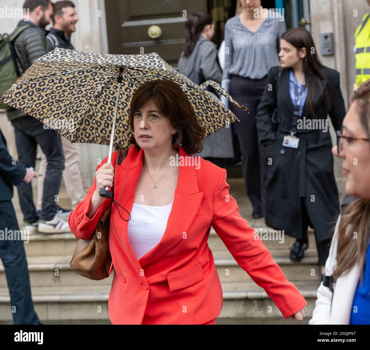
<path fill-rule="evenodd" d="M 240 21 L 240 15 L 229 18 L 225 24 L 225 68 L 222 79 L 231 74 L 261 79 L 273 66 L 280 65 L 280 37 L 286 31 L 285 20 L 269 10 L 266 18 L 253 34 Z"/>

